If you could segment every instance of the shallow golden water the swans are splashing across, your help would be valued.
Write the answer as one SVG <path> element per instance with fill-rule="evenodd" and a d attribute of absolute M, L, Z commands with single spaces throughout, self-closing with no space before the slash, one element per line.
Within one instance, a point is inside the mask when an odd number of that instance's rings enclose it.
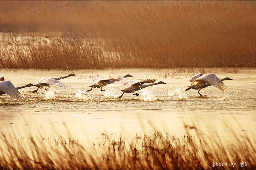
<path fill-rule="evenodd" d="M 68 75 L 68 71 L 1 70 L 0 76 L 10 80 L 15 87 L 35 83 L 41 78 L 57 78 Z M 159 131 L 184 133 L 184 124 L 193 122 L 203 133 L 225 134 L 224 123 L 237 132 L 256 133 L 256 69 L 240 69 L 239 73 L 216 75 L 222 79 L 229 77 L 224 84 L 228 90 L 223 92 L 213 86 L 200 93 L 197 90 L 185 91 L 193 73 L 179 73 L 173 76 L 166 70 L 81 70 L 74 71 L 77 76 L 60 80 L 68 88 L 51 86 L 48 91 L 28 87 L 19 91 L 25 102 L 18 102 L 10 96 L 0 96 L 0 130 L 15 131 L 18 135 L 30 131 L 43 131 L 45 135 L 65 133 L 63 123 L 78 139 L 93 138 L 100 132 L 109 133 L 147 133 L 155 127 Z M 93 83 L 90 76 L 117 78 L 125 74 L 134 77 L 129 80 L 157 78 L 166 84 L 144 88 L 140 96 L 122 94 L 121 82 L 103 87 L 100 91 L 88 87 Z M 150 123 L 148 123 L 150 122 Z M 241 125 L 241 127 L 239 126 Z"/>

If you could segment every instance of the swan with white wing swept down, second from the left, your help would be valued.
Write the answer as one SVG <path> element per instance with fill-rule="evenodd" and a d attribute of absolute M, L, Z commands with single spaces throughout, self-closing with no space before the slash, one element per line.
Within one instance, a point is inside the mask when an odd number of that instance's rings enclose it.
<path fill-rule="evenodd" d="M 60 86 L 60 87 L 65 87 L 67 88 L 67 86 L 65 86 L 64 84 L 62 84 L 60 81 L 60 79 L 65 79 L 67 77 L 70 77 L 70 76 L 76 76 L 75 74 L 71 73 L 67 76 L 64 76 L 64 77 L 59 77 L 59 78 L 42 78 L 40 80 L 38 80 L 37 82 L 35 82 L 33 85 L 34 86 L 37 86 L 37 90 L 34 90 L 32 91 L 33 93 L 34 92 L 37 92 L 38 91 L 38 88 L 43 88 L 44 86 L 49 86 L 50 84 L 51 85 L 56 85 L 56 86 Z M 45 89 L 46 90 L 46 89 Z"/>

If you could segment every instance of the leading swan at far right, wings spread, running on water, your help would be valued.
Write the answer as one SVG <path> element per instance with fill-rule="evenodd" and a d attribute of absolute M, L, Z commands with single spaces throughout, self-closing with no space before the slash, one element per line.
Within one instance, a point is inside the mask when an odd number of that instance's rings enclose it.
<path fill-rule="evenodd" d="M 219 79 L 214 73 L 212 74 L 206 74 L 202 76 L 202 73 L 196 74 L 192 76 L 190 79 L 188 79 L 189 82 L 192 82 L 189 88 L 186 89 L 186 91 L 190 90 L 191 88 L 198 90 L 198 94 L 200 94 L 200 90 L 203 88 L 206 88 L 208 86 L 214 86 L 219 88 L 220 90 L 226 91 L 227 87 L 225 84 L 222 82 L 224 80 L 232 80 L 228 77 L 224 79 Z M 200 96 L 203 96 L 200 94 Z"/>

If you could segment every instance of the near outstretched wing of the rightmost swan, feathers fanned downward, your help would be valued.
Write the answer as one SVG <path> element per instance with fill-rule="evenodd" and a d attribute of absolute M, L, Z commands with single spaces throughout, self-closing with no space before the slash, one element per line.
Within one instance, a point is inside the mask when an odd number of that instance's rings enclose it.
<path fill-rule="evenodd" d="M 210 83 L 212 86 L 219 88 L 220 90 L 226 91 L 227 87 L 225 84 L 214 74 L 206 74 L 195 80 L 195 82 L 205 81 Z"/>

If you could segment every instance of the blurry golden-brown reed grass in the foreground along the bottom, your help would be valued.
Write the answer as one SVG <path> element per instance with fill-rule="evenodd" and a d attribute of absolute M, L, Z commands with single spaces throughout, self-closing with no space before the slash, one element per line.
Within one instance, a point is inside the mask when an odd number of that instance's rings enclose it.
<path fill-rule="evenodd" d="M 68 129 L 66 137 L 55 134 L 55 139 L 39 132 L 27 138 L 1 132 L 0 169 L 239 169 L 242 161 L 246 169 L 256 168 L 255 135 L 230 130 L 221 138 L 206 136 L 195 125 L 184 128 L 180 136 L 154 129 L 133 138 L 101 133 L 93 142 L 78 142 Z"/>

